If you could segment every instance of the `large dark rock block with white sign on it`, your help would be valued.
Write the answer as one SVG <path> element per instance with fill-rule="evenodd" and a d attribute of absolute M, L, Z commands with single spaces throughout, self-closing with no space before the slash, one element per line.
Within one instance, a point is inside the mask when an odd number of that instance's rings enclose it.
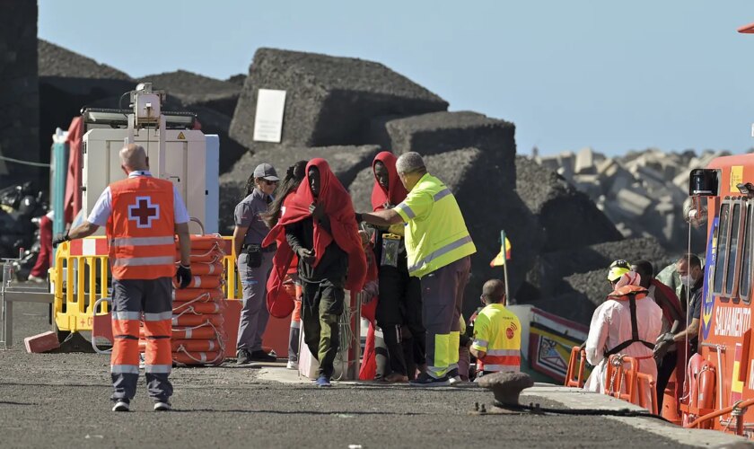
<path fill-rule="evenodd" d="M 259 89 L 286 92 L 280 144 L 254 142 Z M 280 145 L 371 144 L 375 117 L 446 110 L 447 101 L 372 61 L 259 48 L 241 91 L 231 136 L 257 151 Z"/>

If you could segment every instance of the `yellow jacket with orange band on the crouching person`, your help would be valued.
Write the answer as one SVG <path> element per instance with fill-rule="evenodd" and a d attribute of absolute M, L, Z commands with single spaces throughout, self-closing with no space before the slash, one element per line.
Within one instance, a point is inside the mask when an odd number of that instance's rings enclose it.
<path fill-rule="evenodd" d="M 485 351 L 478 371 L 521 370 L 521 321 L 503 304 L 489 304 L 474 321 L 471 348 Z"/>

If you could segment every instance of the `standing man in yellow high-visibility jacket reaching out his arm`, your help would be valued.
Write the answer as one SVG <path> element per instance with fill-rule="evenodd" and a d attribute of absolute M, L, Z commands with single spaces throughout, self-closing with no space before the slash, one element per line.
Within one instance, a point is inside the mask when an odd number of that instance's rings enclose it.
<path fill-rule="evenodd" d="M 477 249 L 451 190 L 426 171 L 421 155 L 402 154 L 396 169 L 408 190 L 406 199 L 392 209 L 356 214 L 356 219 L 381 226 L 406 223 L 408 273 L 421 279 L 426 328 L 426 371 L 410 384 L 447 385 L 460 381 L 460 309 L 469 256 Z"/>

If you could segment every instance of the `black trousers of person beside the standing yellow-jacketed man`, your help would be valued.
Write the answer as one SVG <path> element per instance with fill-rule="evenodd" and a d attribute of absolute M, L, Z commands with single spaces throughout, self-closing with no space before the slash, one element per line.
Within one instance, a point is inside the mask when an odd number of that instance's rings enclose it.
<path fill-rule="evenodd" d="M 421 282 L 393 267 L 381 267 L 379 281 L 376 319 L 390 355 L 390 370 L 413 377 L 406 357 L 412 357 L 409 365 L 416 369 L 417 364 L 425 363 L 426 352 Z"/>

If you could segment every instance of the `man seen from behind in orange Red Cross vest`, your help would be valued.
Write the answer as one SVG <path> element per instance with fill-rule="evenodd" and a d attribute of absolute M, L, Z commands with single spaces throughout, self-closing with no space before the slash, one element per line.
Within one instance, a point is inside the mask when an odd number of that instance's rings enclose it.
<path fill-rule="evenodd" d="M 172 277 L 180 288 L 189 286 L 189 212 L 170 180 L 149 172 L 142 146 L 120 150 L 127 179 L 118 180 L 97 199 L 92 213 L 60 242 L 81 239 L 107 226 L 112 272 L 112 333 L 110 357 L 113 411 L 128 411 L 139 377 L 139 321 L 146 336 L 145 376 L 153 409 L 171 409 Z M 175 265 L 175 234 L 180 265 Z"/>

